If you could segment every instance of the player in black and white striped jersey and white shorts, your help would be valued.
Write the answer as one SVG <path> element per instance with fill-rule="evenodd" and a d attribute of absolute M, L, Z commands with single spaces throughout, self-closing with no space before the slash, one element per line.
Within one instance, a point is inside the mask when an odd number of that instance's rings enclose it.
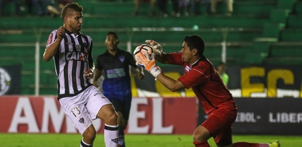
<path fill-rule="evenodd" d="M 93 146 L 96 130 L 92 120 L 97 118 L 105 122 L 106 147 L 117 147 L 117 113 L 108 98 L 90 82 L 94 74 L 92 40 L 80 32 L 82 11 L 78 3 L 70 3 L 62 10 L 64 25 L 50 34 L 43 59 L 55 61 L 57 99 L 82 134 L 80 147 Z"/>

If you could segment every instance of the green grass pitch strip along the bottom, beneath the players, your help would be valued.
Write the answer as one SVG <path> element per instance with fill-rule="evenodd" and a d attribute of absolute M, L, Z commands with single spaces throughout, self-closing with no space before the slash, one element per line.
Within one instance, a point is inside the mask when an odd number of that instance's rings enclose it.
<path fill-rule="evenodd" d="M 105 147 L 104 135 L 97 134 L 94 147 Z M 80 147 L 80 134 L 0 134 L 0 147 Z M 127 147 L 194 147 L 192 135 L 126 134 Z M 302 147 L 302 136 L 233 135 L 233 142 L 269 143 L 279 140 L 281 147 Z M 216 147 L 213 138 L 211 147 Z"/>

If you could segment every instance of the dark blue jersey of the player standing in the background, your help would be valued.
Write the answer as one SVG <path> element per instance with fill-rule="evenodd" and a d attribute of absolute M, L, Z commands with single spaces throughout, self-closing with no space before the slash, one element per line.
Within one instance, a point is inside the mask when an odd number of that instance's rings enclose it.
<path fill-rule="evenodd" d="M 136 68 L 130 52 L 118 49 L 115 55 L 106 50 L 97 58 L 96 69 L 103 72 L 103 92 L 105 96 L 131 96 L 130 66 Z"/>

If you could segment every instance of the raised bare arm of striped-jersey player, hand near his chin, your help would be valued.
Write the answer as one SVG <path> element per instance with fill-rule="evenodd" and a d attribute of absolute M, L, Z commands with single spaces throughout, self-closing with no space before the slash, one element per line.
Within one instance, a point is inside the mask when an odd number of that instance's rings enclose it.
<path fill-rule="evenodd" d="M 44 51 L 43 59 L 44 61 L 50 61 L 54 56 L 57 50 L 60 47 L 60 43 L 65 36 L 65 28 L 61 26 L 56 31 L 56 40 Z"/>

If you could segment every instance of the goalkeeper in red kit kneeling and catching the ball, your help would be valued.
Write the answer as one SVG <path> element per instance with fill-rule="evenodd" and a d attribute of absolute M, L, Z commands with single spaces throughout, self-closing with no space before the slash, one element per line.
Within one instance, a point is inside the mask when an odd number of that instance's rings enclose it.
<path fill-rule="evenodd" d="M 210 147 L 207 140 L 214 138 L 218 147 L 280 147 L 278 141 L 269 144 L 238 142 L 232 143 L 232 123 L 237 117 L 237 106 L 232 94 L 220 78 L 213 64 L 203 55 L 204 42 L 198 36 L 186 36 L 180 52 L 165 53 L 160 44 L 147 40 L 155 52 L 155 59 L 137 53 L 137 66 L 151 73 L 170 91 L 192 88 L 208 115 L 193 133 L 195 147 Z M 165 64 L 181 65 L 185 74 L 177 80 L 166 76 L 155 61 Z"/>

